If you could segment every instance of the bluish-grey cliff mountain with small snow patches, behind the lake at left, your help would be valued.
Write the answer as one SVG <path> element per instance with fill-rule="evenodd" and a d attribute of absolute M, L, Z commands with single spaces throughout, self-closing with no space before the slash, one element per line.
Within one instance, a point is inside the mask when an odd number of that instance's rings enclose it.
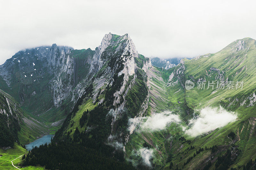
<path fill-rule="evenodd" d="M 36 105 L 45 111 L 60 107 L 64 100 L 77 100 L 73 89 L 83 79 L 78 77 L 88 74 L 80 70 L 88 72 L 94 51 L 71 51 L 71 47 L 56 44 L 19 51 L 0 66 L 1 87 L 28 107 L 36 98 Z"/>

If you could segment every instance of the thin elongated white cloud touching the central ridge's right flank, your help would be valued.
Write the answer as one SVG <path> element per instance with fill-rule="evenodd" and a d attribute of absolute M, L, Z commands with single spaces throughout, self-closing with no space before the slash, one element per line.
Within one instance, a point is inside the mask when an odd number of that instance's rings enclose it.
<path fill-rule="evenodd" d="M 132 133 L 137 126 L 140 130 L 163 130 L 172 122 L 180 122 L 179 115 L 173 115 L 172 112 L 165 111 L 151 116 L 130 118 L 129 130 Z"/>

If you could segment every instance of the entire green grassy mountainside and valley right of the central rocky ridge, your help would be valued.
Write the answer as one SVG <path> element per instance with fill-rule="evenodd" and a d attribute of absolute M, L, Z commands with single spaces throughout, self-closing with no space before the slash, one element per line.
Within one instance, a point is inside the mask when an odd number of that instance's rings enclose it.
<path fill-rule="evenodd" d="M 169 125 L 160 131 L 139 131 L 132 134 L 126 144 L 127 158 L 132 158 L 132 152 L 138 151 L 144 143 L 154 149 L 152 166 L 156 169 L 169 169 L 176 165 L 181 169 L 196 169 L 204 167 L 209 160 L 215 169 L 218 155 L 225 155 L 231 149 L 232 163 L 229 167 L 243 168 L 250 159 L 256 159 L 255 148 L 255 63 L 256 42 L 244 38 L 232 42 L 226 48 L 215 54 L 207 54 L 192 60 L 184 59 L 184 63 L 169 69 L 149 69 L 150 100 L 148 114 L 164 110 L 179 114 L 181 126 L 176 129 Z M 191 80 L 195 87 L 184 88 L 185 81 Z M 197 89 L 197 81 L 206 81 L 205 89 Z M 208 81 L 214 82 L 214 89 L 207 89 Z M 217 81 L 234 82 L 234 89 L 216 89 Z M 236 89 L 236 81 L 244 81 L 243 89 Z M 234 111 L 238 118 L 223 128 L 198 137 L 190 137 L 182 131 L 189 120 L 199 114 L 204 107 L 222 106 Z M 229 135 L 234 133 L 235 137 Z M 216 145 L 215 149 L 214 146 Z M 150 148 L 149 147 L 149 148 Z M 205 147 L 207 149 L 205 149 Z M 199 152 L 200 148 L 204 150 Z M 199 153 L 196 153 L 199 152 Z M 195 156 L 194 156 L 195 153 Z M 235 154 L 236 153 L 236 154 Z"/>

